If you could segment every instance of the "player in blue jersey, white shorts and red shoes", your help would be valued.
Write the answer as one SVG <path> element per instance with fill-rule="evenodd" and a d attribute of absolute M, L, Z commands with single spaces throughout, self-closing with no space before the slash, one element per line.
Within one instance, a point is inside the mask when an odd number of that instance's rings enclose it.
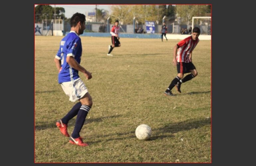
<path fill-rule="evenodd" d="M 60 49 L 55 56 L 55 64 L 59 70 L 58 80 L 69 100 L 76 103 L 73 108 L 60 120 L 56 122 L 61 133 L 69 137 L 69 142 L 79 146 L 87 146 L 79 135 L 85 122 L 85 118 L 92 107 L 91 96 L 78 75 L 80 71 L 86 79 L 91 79 L 91 73 L 80 65 L 82 56 L 82 44 L 79 37 L 85 29 L 85 15 L 75 13 L 70 19 L 70 32 L 60 43 Z M 74 130 L 71 136 L 67 132 L 68 121 L 76 118 Z"/>

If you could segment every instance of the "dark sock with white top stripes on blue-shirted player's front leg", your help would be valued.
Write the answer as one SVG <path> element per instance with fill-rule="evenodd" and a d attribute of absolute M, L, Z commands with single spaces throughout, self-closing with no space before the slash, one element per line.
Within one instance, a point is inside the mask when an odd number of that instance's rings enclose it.
<path fill-rule="evenodd" d="M 75 128 L 72 132 L 72 137 L 73 138 L 78 138 L 79 132 L 82 129 L 82 126 L 85 122 L 85 118 L 88 114 L 88 112 L 90 111 L 91 107 L 87 106 L 87 105 L 82 105 L 80 110 L 78 111 L 77 117 L 76 117 L 76 121 L 75 121 Z"/>

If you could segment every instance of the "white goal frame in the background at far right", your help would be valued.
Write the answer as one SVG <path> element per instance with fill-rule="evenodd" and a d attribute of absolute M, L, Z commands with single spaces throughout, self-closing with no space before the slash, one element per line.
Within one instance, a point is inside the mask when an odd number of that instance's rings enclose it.
<path fill-rule="evenodd" d="M 200 19 L 200 23 L 199 25 L 196 24 L 197 26 L 200 26 L 200 30 L 201 30 L 201 33 L 203 33 L 204 31 L 203 30 L 206 30 L 206 34 L 209 35 L 209 31 L 210 31 L 210 34 L 211 34 L 211 17 L 192 17 L 192 30 L 193 28 L 195 27 L 195 19 Z"/>

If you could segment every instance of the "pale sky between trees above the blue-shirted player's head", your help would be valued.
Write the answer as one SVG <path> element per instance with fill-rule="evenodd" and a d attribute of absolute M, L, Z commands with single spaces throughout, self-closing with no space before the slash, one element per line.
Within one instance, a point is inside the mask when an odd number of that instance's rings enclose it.
<path fill-rule="evenodd" d="M 51 5 L 54 7 L 54 5 Z M 76 12 L 86 14 L 86 12 L 95 11 L 96 5 L 55 5 L 56 7 L 63 7 L 65 9 L 65 17 L 71 18 Z M 104 9 L 110 11 L 111 5 L 97 5 L 97 9 Z"/>

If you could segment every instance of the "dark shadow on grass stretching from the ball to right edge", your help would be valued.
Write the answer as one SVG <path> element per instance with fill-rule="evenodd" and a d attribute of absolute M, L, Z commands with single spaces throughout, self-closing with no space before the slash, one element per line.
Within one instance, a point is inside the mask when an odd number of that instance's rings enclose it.
<path fill-rule="evenodd" d="M 194 128 L 199 128 L 205 125 L 211 125 L 210 118 L 201 118 L 201 119 L 193 119 L 188 121 L 183 121 L 180 123 L 170 123 L 160 128 L 154 128 L 154 136 L 150 138 L 150 140 L 155 139 L 163 139 L 166 137 L 170 137 L 170 134 L 165 135 L 164 133 L 177 133 L 179 131 L 191 130 Z M 173 137 L 173 135 L 171 135 Z"/>

